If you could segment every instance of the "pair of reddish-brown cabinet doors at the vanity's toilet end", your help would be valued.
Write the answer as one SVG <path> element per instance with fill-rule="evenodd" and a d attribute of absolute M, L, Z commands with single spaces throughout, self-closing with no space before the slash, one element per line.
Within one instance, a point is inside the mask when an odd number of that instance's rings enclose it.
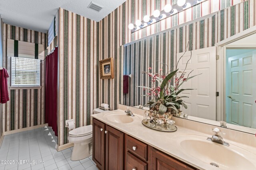
<path fill-rule="evenodd" d="M 100 170 L 122 170 L 124 133 L 92 119 L 92 160 Z"/>

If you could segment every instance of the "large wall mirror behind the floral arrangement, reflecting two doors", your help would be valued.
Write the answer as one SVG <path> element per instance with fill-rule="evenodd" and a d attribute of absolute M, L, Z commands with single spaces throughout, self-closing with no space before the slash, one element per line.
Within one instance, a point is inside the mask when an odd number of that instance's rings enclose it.
<path fill-rule="evenodd" d="M 183 27 L 188 32 L 182 36 L 181 27 L 177 27 L 121 47 L 126 78 L 120 104 L 146 106 L 151 97 L 139 86 L 151 86 L 152 77 L 147 72 L 167 73 L 180 59 L 177 64 L 179 70 L 193 70 L 190 76 L 200 74 L 180 87 L 194 89 L 181 93 L 181 96 L 188 97 L 184 98 L 187 109 L 181 106 L 188 119 L 216 126 L 225 121 L 229 129 L 255 134 L 255 26 L 212 43 L 210 36 L 207 40 L 200 36 L 191 37 L 190 25 Z M 200 41 L 208 42 L 206 45 Z"/>

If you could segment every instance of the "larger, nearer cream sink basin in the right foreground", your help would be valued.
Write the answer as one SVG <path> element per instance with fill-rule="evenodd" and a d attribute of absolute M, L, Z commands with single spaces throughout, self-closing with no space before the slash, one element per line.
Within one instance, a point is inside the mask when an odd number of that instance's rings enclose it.
<path fill-rule="evenodd" d="M 200 135 L 177 135 L 177 144 L 190 156 L 205 162 L 217 164 L 219 169 L 255 170 L 256 155 L 248 150 L 230 144 L 229 147 L 207 141 Z"/>

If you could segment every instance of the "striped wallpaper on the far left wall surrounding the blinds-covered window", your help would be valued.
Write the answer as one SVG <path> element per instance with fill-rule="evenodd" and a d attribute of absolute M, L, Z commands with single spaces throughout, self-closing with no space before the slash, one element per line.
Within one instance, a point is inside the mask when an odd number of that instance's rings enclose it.
<path fill-rule="evenodd" d="M 3 25 L 3 67 L 10 76 L 10 57 L 7 57 L 7 39 L 47 44 L 46 34 L 12 25 Z M 44 61 L 41 63 L 41 89 L 9 89 L 10 101 L 2 105 L 3 131 L 44 124 Z M 8 78 L 10 86 L 10 78 Z"/>

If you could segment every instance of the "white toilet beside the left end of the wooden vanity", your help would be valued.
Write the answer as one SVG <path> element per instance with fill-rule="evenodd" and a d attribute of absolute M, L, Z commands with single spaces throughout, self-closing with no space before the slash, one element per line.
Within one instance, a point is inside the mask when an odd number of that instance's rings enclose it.
<path fill-rule="evenodd" d="M 93 113 L 105 112 L 101 109 L 94 109 Z M 92 125 L 78 127 L 73 129 L 74 120 L 66 120 L 68 127 L 68 141 L 74 143 L 74 148 L 71 155 L 71 160 L 81 160 L 92 155 Z M 71 127 L 71 128 L 70 128 Z M 73 129 L 73 130 L 72 130 Z"/>

